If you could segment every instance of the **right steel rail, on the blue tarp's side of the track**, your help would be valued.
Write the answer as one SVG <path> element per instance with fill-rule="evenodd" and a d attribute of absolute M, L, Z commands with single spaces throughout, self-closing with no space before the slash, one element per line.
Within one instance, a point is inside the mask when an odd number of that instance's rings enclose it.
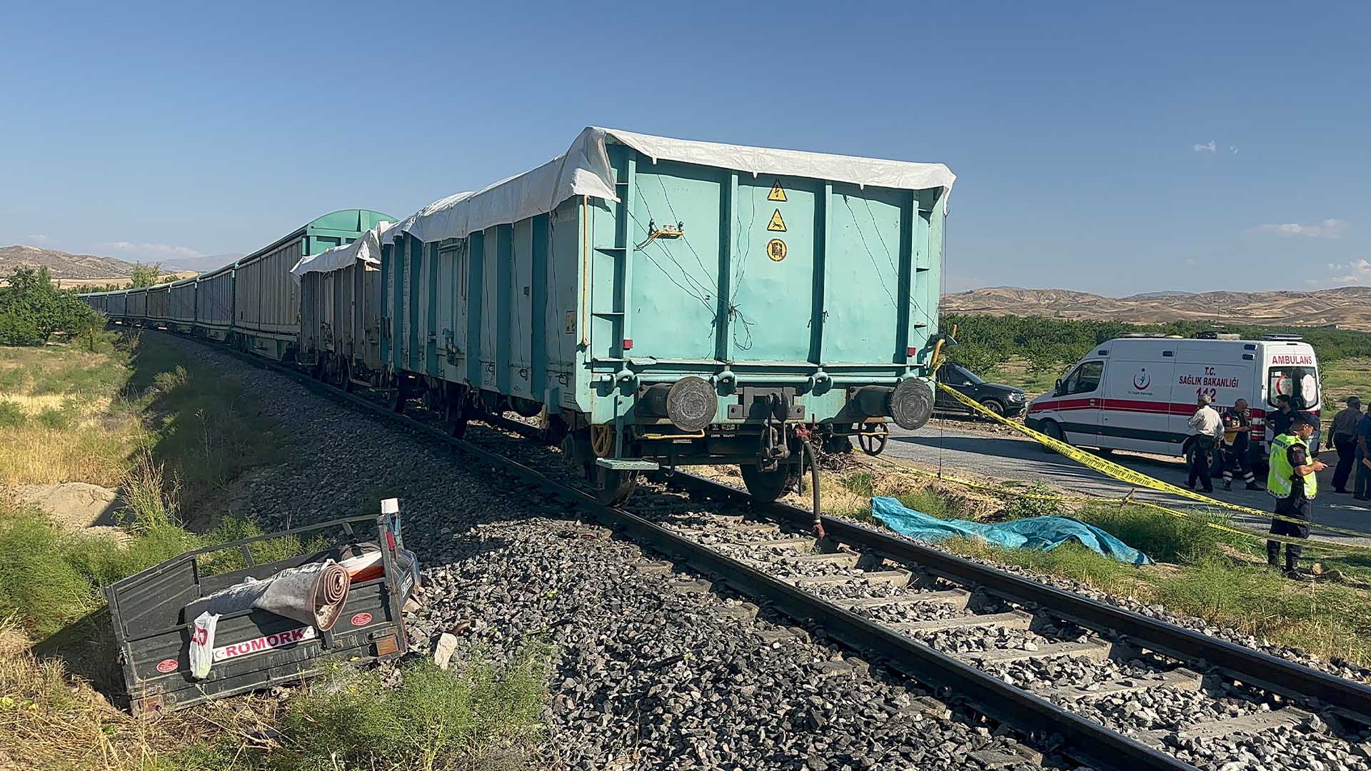
<path fill-rule="evenodd" d="M 750 503 L 764 516 L 808 528 L 813 513 L 788 503 L 760 503 L 746 491 L 692 473 L 677 472 L 673 486 Z M 1318 700 L 1338 715 L 1371 726 L 1371 686 L 1322 672 L 1287 659 L 1197 632 L 1176 624 L 1090 600 L 1045 583 L 1013 575 L 923 546 L 906 538 L 823 517 L 829 538 L 912 562 L 954 583 L 979 584 L 1016 602 L 1038 605 L 1052 615 L 1097 631 L 1127 635 L 1132 642 L 1186 661 L 1202 661 L 1223 675 L 1294 700 Z"/>

